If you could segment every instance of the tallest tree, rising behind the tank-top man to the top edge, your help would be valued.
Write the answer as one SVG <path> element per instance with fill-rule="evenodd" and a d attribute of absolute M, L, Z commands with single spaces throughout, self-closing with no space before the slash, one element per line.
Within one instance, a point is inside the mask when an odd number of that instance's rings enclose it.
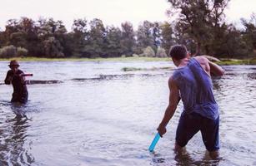
<path fill-rule="evenodd" d="M 196 42 L 196 55 L 212 54 L 214 28 L 221 27 L 229 0 L 168 0 L 171 16 L 178 14 L 176 30 Z M 180 36 L 182 37 L 182 36 Z M 186 40 L 185 40 L 186 41 Z M 187 44 L 187 43 L 186 43 Z M 202 52 L 201 52 L 202 51 Z"/>

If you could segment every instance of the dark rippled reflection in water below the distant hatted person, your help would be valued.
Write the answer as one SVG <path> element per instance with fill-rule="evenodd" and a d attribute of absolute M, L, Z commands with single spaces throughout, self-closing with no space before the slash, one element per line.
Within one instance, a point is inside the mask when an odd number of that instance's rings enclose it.
<path fill-rule="evenodd" d="M 5 106 L 8 106 L 5 104 Z M 8 107 L 2 107 L 8 108 Z M 12 113 L 1 110 L 0 116 L 0 165 L 29 165 L 33 164 L 33 155 L 28 152 L 28 147 L 23 147 L 27 139 L 29 120 L 24 117 L 23 106 L 9 104 Z M 11 115 L 8 115 L 11 114 Z"/>

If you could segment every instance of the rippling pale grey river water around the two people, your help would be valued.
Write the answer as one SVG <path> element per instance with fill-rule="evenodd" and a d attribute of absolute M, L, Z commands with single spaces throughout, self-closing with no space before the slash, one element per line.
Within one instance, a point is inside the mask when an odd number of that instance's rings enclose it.
<path fill-rule="evenodd" d="M 256 66 L 223 66 L 213 78 L 220 108 L 220 159 L 209 159 L 196 134 L 183 154 L 173 152 L 182 104 L 153 153 L 148 146 L 168 105 L 173 70 L 122 71 L 123 67 L 174 67 L 158 61 L 21 62 L 28 104 L 9 101 L 0 85 L 0 165 L 163 166 L 256 165 Z M 8 61 L 0 62 L 0 83 Z M 16 115 L 27 116 L 18 118 Z"/>

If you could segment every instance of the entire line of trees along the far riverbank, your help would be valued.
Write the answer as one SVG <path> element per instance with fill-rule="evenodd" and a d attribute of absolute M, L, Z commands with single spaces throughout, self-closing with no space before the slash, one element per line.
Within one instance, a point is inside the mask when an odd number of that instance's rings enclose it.
<path fill-rule="evenodd" d="M 53 18 L 10 19 L 0 30 L 0 57 L 118 57 L 168 54 L 169 46 L 188 46 L 194 55 L 248 57 L 256 50 L 256 14 L 241 19 L 243 28 L 225 22 L 229 0 L 168 0 L 173 22 L 143 21 L 106 26 L 94 18 L 73 21 L 68 32 L 63 22 Z M 253 53 L 254 52 L 254 53 Z"/>

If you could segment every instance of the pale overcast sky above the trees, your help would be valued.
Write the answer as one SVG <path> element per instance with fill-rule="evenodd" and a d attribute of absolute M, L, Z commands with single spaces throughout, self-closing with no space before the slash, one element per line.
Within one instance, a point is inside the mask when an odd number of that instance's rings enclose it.
<path fill-rule="evenodd" d="M 3 30 L 10 18 L 53 17 L 62 20 L 70 30 L 73 19 L 100 18 L 104 25 L 120 27 L 122 22 L 132 22 L 134 28 L 139 22 L 168 21 L 165 12 L 166 0 L 1 0 L 0 28 Z M 249 18 L 256 12 L 256 0 L 231 0 L 226 10 L 228 22 L 239 22 L 241 17 Z"/>

